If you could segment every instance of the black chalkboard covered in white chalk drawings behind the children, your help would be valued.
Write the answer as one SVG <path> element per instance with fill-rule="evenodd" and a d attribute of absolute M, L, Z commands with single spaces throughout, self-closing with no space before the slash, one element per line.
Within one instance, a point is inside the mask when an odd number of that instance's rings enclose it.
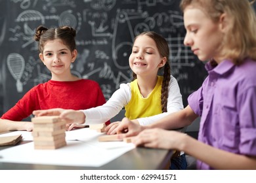
<path fill-rule="evenodd" d="M 184 106 L 207 75 L 204 63 L 183 45 L 186 31 L 177 0 L 0 0 L 1 113 L 51 78 L 32 38 L 38 25 L 77 30 L 72 73 L 96 80 L 107 100 L 119 84 L 131 81 L 128 58 L 133 38 L 142 31 L 167 39 L 171 74 L 179 82 Z"/>

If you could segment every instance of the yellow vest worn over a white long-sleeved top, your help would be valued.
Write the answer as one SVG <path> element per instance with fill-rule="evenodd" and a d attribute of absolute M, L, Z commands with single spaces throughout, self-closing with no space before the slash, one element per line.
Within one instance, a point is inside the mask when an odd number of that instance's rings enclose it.
<path fill-rule="evenodd" d="M 131 82 L 131 100 L 125 105 L 125 116 L 129 120 L 161 114 L 161 84 L 163 76 L 158 76 L 154 90 L 144 98 L 140 94 L 137 79 Z"/>

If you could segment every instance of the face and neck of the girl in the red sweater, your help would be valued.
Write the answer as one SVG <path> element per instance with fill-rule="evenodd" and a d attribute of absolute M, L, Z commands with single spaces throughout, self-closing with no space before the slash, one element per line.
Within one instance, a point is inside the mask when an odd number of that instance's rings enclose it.
<path fill-rule="evenodd" d="M 52 73 L 52 80 L 64 80 L 71 75 L 70 65 L 75 61 L 77 51 L 70 51 L 60 39 L 47 41 L 39 58 Z"/>

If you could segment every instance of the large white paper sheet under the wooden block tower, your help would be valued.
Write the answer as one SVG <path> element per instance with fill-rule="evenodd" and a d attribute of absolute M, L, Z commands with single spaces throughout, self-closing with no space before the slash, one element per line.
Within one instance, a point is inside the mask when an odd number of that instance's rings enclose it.
<path fill-rule="evenodd" d="M 23 132 L 24 131 L 22 131 L 22 134 Z M 9 135 L 11 135 L 11 133 L 9 133 Z M 56 150 L 35 150 L 33 142 L 30 142 L 1 150 L 0 161 L 10 163 L 100 167 L 135 148 L 134 144 L 122 141 L 98 142 L 100 135 L 104 135 L 104 133 L 98 133 L 89 128 L 67 131 L 67 146 Z"/>

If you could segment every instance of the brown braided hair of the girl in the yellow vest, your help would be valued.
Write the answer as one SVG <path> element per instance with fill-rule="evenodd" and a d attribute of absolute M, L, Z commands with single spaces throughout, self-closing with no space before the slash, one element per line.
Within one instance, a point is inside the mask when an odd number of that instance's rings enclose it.
<path fill-rule="evenodd" d="M 158 48 L 158 52 L 160 53 L 160 56 L 165 57 L 167 59 L 165 66 L 163 67 L 163 83 L 161 84 L 161 110 L 163 112 L 167 112 L 168 86 L 171 80 L 171 66 L 168 61 L 168 58 L 169 58 L 168 42 L 164 39 L 164 37 L 162 37 L 161 35 L 159 35 L 154 31 L 146 31 L 146 32 L 140 33 L 140 35 L 137 35 L 137 37 L 141 35 L 146 35 L 151 39 L 153 39 L 156 42 L 156 46 Z M 135 40 L 137 39 L 137 37 L 135 37 Z M 136 78 L 137 78 L 137 75 L 133 73 L 133 80 L 135 80 Z"/>

